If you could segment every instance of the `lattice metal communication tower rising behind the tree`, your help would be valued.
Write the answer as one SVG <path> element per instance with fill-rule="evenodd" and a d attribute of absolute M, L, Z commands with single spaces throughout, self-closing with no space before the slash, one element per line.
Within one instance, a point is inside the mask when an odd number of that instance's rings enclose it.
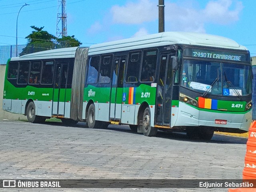
<path fill-rule="evenodd" d="M 61 8 L 61 12 L 60 12 Z M 67 13 L 66 0 L 58 0 L 57 29 L 56 38 L 66 37 L 67 32 Z"/>

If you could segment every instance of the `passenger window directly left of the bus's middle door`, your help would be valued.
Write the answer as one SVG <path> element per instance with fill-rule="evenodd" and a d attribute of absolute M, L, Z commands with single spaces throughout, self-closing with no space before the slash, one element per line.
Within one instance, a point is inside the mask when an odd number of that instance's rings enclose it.
<path fill-rule="evenodd" d="M 110 71 L 112 68 L 112 56 L 103 56 L 100 63 L 99 83 L 110 83 Z"/>

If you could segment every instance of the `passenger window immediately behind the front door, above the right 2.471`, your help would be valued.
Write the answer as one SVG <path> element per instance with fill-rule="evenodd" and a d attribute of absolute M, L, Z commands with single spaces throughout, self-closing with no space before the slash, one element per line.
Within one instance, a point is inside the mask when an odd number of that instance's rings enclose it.
<path fill-rule="evenodd" d="M 140 81 L 154 82 L 156 79 L 157 49 L 146 50 L 143 53 Z"/>

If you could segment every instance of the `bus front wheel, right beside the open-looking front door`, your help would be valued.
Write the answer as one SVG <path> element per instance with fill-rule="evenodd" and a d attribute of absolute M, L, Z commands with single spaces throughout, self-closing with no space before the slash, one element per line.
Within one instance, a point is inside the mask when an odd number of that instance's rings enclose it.
<path fill-rule="evenodd" d="M 156 136 L 157 128 L 151 127 L 150 109 L 147 107 L 143 113 L 142 130 L 145 136 Z"/>

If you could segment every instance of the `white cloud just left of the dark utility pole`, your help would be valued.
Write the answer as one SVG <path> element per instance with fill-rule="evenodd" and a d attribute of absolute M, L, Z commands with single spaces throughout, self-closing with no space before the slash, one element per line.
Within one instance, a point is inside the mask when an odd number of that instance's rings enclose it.
<path fill-rule="evenodd" d="M 111 8 L 113 22 L 116 24 L 142 24 L 158 18 L 158 8 L 152 0 L 139 0 L 138 3 L 128 2 L 124 6 L 115 5 Z"/>

